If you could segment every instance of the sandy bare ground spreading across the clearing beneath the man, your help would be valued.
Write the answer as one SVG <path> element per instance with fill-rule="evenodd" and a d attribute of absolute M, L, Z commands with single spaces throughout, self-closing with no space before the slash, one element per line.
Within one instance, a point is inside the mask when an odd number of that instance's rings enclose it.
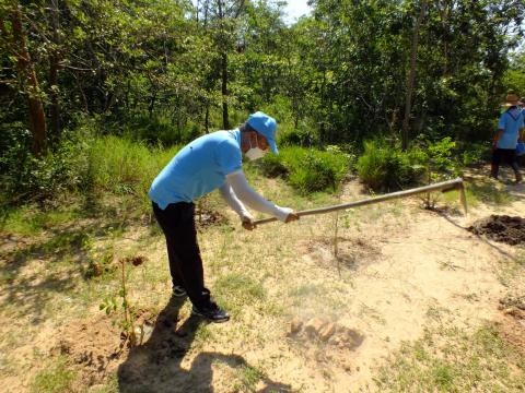
<path fill-rule="evenodd" d="M 132 349 L 122 346 L 118 326 L 96 307 L 74 319 L 39 321 L 30 330 L 32 342 L 19 341 L 23 344 L 10 354 L 23 365 L 23 376 L 7 366 L 4 354 L 0 383 L 8 392 L 28 391 L 40 370 L 32 364 L 37 350 L 68 357 L 80 376 L 74 391 L 104 391 L 112 378 L 122 392 L 376 391 L 374 377 L 389 354 L 436 322 L 466 331 L 494 323 L 523 350 L 524 291 L 512 273 L 505 276 L 504 266 L 523 252 L 525 186 L 506 189 L 515 200 L 470 206 L 468 216 L 458 205 L 425 211 L 411 199 L 341 214 L 337 234 L 335 216 L 327 215 L 229 235 L 223 247 L 230 250 L 249 251 L 248 241 L 268 245 L 269 238 L 275 248 L 278 239 L 287 239 L 278 258 L 272 249 L 257 261 L 249 252 L 231 252 L 264 283 L 269 300 L 247 298 L 232 321 L 209 325 L 189 317 L 184 299 L 164 296 L 159 312 L 140 313 L 143 344 Z M 341 201 L 361 198 L 365 193 L 357 182 L 341 194 Z M 205 261 L 220 258 L 221 234 L 201 241 Z M 149 260 L 162 260 L 162 239 L 150 246 Z M 42 261 L 32 263 L 36 266 L 28 264 L 20 274 L 36 288 L 38 277 L 31 272 Z M 234 269 L 207 265 L 207 281 Z M 509 298 L 512 291 L 518 295 Z M 0 303 L 10 296 L 2 291 Z M 278 311 L 260 311 L 268 305 Z M 18 324 L 36 323 L 37 314 L 27 309 L 24 318 L 13 319 L 15 313 L 3 312 L 0 340 L 13 335 Z"/>

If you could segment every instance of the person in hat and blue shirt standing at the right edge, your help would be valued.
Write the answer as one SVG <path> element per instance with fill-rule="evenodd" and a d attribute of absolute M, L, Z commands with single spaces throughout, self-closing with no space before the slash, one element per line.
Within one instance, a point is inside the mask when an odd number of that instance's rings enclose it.
<path fill-rule="evenodd" d="M 516 182 L 523 180 L 517 164 L 516 145 L 524 138 L 524 119 L 518 107 L 520 97 L 514 93 L 506 95 L 503 106 L 506 110 L 498 122 L 498 132 L 492 142 L 492 169 L 491 176 L 498 179 L 501 162 L 509 164 L 514 170 Z"/>

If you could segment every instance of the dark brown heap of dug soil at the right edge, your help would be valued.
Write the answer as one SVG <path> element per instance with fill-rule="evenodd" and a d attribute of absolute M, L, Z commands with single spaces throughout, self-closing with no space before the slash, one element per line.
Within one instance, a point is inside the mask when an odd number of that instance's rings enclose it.
<path fill-rule="evenodd" d="M 477 221 L 468 230 L 508 245 L 525 245 L 525 218 L 518 216 L 491 215 Z"/>

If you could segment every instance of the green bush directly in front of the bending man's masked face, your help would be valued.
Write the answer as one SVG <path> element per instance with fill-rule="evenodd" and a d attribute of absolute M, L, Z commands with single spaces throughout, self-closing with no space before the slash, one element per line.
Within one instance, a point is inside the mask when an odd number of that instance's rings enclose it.
<path fill-rule="evenodd" d="M 282 176 L 302 193 L 337 190 L 347 175 L 350 157 L 340 151 L 283 147 L 279 155 L 268 154 L 260 162 L 262 172 Z"/>

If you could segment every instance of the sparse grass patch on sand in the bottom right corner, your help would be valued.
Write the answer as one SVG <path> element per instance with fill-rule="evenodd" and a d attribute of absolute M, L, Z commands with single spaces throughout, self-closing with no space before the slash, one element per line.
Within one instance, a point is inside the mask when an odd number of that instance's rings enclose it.
<path fill-rule="evenodd" d="M 404 343 L 375 383 L 382 392 L 523 392 L 525 356 L 492 326 L 441 327 Z"/>

